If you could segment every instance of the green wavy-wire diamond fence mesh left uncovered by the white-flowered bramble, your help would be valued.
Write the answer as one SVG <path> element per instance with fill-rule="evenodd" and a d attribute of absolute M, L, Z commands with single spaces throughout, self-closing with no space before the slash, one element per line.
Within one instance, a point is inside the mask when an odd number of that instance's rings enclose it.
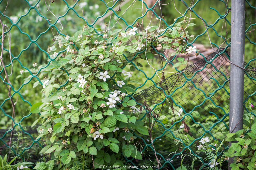
<path fill-rule="evenodd" d="M 10 33 L 12 41 L 10 47 L 11 56 L 9 56 L 10 49 L 7 38 L 5 38 L 3 49 L 3 61 L 7 73 L 10 75 L 10 82 L 7 82 L 5 71 L 1 64 L 1 154 L 8 153 L 10 149 L 12 155 L 20 155 L 24 159 L 22 155 L 25 152 L 30 152 L 31 150 L 37 150 L 39 152 L 41 146 L 44 145 L 43 141 L 36 139 L 37 130 L 31 129 L 27 123 L 31 122 L 30 124 L 32 124 L 35 120 L 34 117 L 36 116 L 29 112 L 29 108 L 31 104 L 40 101 L 41 96 L 41 89 L 38 87 L 33 88 L 33 86 L 38 83 L 42 85 L 40 73 L 53 69 L 54 67 L 52 67 L 51 63 L 57 58 L 51 58 L 46 52 L 48 45 L 53 43 L 51 41 L 53 34 L 57 35 L 59 33 L 60 36 L 72 34 L 81 29 L 82 24 L 86 22 L 89 27 L 94 28 L 96 33 L 100 32 L 98 34 L 102 35 L 101 30 L 105 29 L 105 22 L 109 24 L 110 28 L 124 28 L 127 30 L 135 27 L 136 22 L 142 24 L 142 21 L 149 22 L 152 18 L 155 19 L 155 17 L 160 19 L 161 25 L 163 25 L 166 31 L 167 29 L 173 29 L 175 24 L 178 21 L 182 21 L 184 16 L 186 16 L 187 18 L 200 20 L 200 29 L 203 30 L 192 41 L 187 41 L 187 46 L 193 46 L 194 43 L 199 43 L 202 37 L 207 39 L 208 35 L 215 35 L 215 37 L 218 37 L 218 41 L 221 40 L 223 42 L 221 45 L 225 48 L 220 48 L 221 46 L 217 45 L 217 41 L 209 43 L 209 46 L 214 46 L 215 52 L 210 55 L 206 54 L 206 56 L 199 52 L 201 59 L 192 60 L 189 66 L 181 71 L 176 69 L 177 74 L 164 74 L 164 77 L 161 77 L 161 82 L 157 81 L 159 78 L 155 71 L 151 76 L 146 74 L 146 69 L 151 68 L 141 69 L 133 59 L 129 60 L 125 55 L 123 56 L 128 63 L 134 66 L 135 70 L 133 72 L 142 75 L 139 79 L 144 82 L 137 87 L 136 91 L 138 93 L 131 95 L 131 97 L 141 105 L 141 110 L 143 111 L 141 112 L 139 109 L 137 113 L 144 114 L 142 119 L 146 117 L 152 137 L 152 140 L 150 137 L 142 138 L 134 132 L 135 136 L 144 144 L 141 150 L 143 152 L 143 161 L 130 158 L 126 158 L 126 160 L 128 164 L 135 166 L 145 165 L 145 163 L 155 166 L 157 164 L 155 157 L 157 156 L 161 163 L 161 169 L 175 169 L 181 164 L 181 154 L 191 153 L 190 157 L 187 156 L 183 160 L 183 164 L 189 165 L 191 164 L 191 160 L 195 158 L 195 169 L 202 169 L 204 166 L 209 166 L 209 160 L 204 159 L 203 153 L 198 152 L 196 146 L 199 145 L 201 138 L 209 137 L 211 141 L 217 139 L 223 140 L 229 132 L 230 53 L 227 49 L 230 47 L 230 42 L 225 37 L 228 35 L 226 33 L 223 35 L 222 30 L 216 30 L 215 26 L 225 22 L 228 28 L 230 27 L 229 18 L 231 8 L 228 6 L 230 3 L 219 0 L 217 3 L 221 4 L 221 9 L 210 8 L 211 13 L 217 16 L 214 20 L 209 21 L 212 24 L 209 24 L 204 19 L 204 16 L 197 13 L 197 10 L 200 10 L 197 8 L 197 4 L 201 3 L 200 0 L 192 4 L 190 4 L 191 1 L 183 0 L 177 0 L 174 3 L 142 0 L 107 2 L 99 0 L 97 3 L 100 3 L 100 8 L 99 5 L 93 6 L 95 2 L 82 0 L 76 2 L 62 0 L 54 3 L 49 3 L 48 1 L 45 3 L 42 0 L 24 0 L 17 1 L 17 4 L 12 3 L 16 2 L 10 2 L 9 6 L 16 6 L 15 9 L 22 8 L 17 16 L 13 16 L 14 14 L 11 13 L 8 6 L 5 10 L 7 0 L 0 1 L 1 20 L 9 28 L 9 30 L 4 31 L 4 35 L 8 36 Z M 90 10 L 82 10 L 90 4 Z M 163 4 L 167 5 L 162 9 Z M 21 6 L 17 7 L 19 5 Z M 53 11 L 55 12 L 51 13 L 47 11 L 50 5 L 54 7 Z M 133 6 L 140 6 L 140 8 L 136 11 L 136 8 L 133 8 Z M 174 21 L 171 24 L 167 24 L 167 19 L 163 19 L 159 15 L 161 14 L 161 10 L 162 13 L 166 13 L 165 10 L 170 6 L 173 7 L 172 9 L 178 8 L 178 11 L 181 12 L 178 12 L 177 16 L 169 16 L 169 18 L 174 18 Z M 179 10 L 181 6 L 182 10 Z M 255 12 L 256 8 L 248 1 L 246 1 L 246 6 Z M 130 15 L 127 15 L 126 12 L 129 10 L 134 11 Z M 167 18 L 166 15 L 165 18 Z M 250 30 L 253 30 L 254 25 L 256 23 L 246 24 L 245 36 L 249 42 L 248 44 L 251 44 L 251 46 L 256 45 L 253 40 L 250 40 L 249 36 L 249 34 L 253 33 Z M 66 29 L 68 27 L 70 29 Z M 164 35 L 165 31 L 160 32 L 159 36 Z M 115 33 L 113 37 L 117 36 L 117 34 Z M 3 38 L 2 34 L 0 36 L 1 38 Z M 166 59 L 164 61 L 161 60 L 163 67 L 159 67 L 158 72 L 163 72 L 167 64 L 175 64 L 175 58 L 177 56 L 174 56 L 171 60 L 167 60 L 166 51 L 158 50 L 154 46 L 152 46 L 152 49 L 151 52 L 153 54 L 160 55 Z M 65 51 L 59 53 L 62 52 Z M 255 101 L 256 72 L 254 71 L 255 59 L 253 58 L 255 56 L 250 56 L 249 59 L 251 60 L 244 65 L 248 69 L 245 70 L 244 80 L 245 102 L 251 95 L 253 96 L 252 100 Z M 145 60 L 143 61 L 145 62 Z M 37 68 L 33 67 L 33 63 L 44 65 L 41 68 Z M 19 75 L 21 70 L 24 72 Z M 63 70 L 63 72 L 65 71 Z M 19 76 L 14 77 L 14 73 Z M 67 72 L 65 74 L 68 75 Z M 150 86 L 152 83 L 153 85 Z M 11 87 L 10 93 L 8 93 L 9 86 Z M 10 98 L 16 102 L 14 111 Z M 13 115 L 14 113 L 15 116 Z M 37 116 L 40 116 L 40 114 Z M 12 122 L 14 122 L 13 125 Z M 21 140 L 26 140 L 26 142 Z M 183 141 L 182 144 L 180 141 Z M 10 146 L 13 146 L 13 143 L 10 145 L 10 142 L 16 142 L 16 146 L 26 143 L 26 146 L 10 148 Z M 225 143 L 225 147 L 227 146 L 228 144 Z M 223 151 L 219 152 L 219 154 L 221 155 Z"/>

